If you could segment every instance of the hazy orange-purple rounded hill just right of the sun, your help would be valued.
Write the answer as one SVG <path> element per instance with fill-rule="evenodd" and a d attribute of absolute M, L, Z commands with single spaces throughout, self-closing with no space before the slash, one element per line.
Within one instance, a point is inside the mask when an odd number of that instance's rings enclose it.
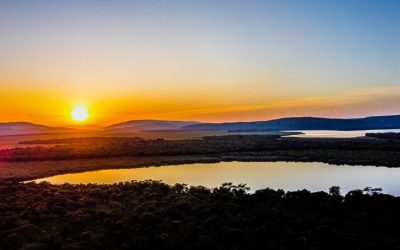
<path fill-rule="evenodd" d="M 184 126 L 200 124 L 199 122 L 162 121 L 162 120 L 133 120 L 105 127 L 106 130 L 118 132 L 142 132 L 155 130 L 179 130 Z"/>

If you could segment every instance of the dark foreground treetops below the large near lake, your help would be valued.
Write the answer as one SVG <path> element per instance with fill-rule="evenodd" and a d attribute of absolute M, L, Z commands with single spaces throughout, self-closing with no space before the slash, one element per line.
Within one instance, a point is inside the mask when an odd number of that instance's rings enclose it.
<path fill-rule="evenodd" d="M 399 249 L 378 191 L 0 182 L 0 249 Z"/>

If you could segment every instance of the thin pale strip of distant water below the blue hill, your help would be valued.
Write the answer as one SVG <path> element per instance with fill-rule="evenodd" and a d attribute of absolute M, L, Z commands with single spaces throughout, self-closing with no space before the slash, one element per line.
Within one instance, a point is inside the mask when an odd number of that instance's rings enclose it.
<path fill-rule="evenodd" d="M 287 132 L 303 132 L 304 134 L 290 135 L 290 137 L 302 138 L 353 138 L 364 136 L 366 133 L 386 133 L 397 132 L 400 129 L 378 129 L 378 130 L 354 130 L 354 131 L 339 131 L 339 130 L 297 130 Z"/>

